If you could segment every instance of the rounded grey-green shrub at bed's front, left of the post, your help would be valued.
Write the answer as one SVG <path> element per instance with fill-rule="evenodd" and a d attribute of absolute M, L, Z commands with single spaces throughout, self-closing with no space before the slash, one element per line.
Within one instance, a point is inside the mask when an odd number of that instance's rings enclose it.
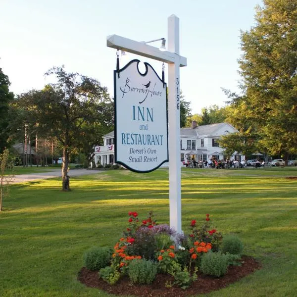
<path fill-rule="evenodd" d="M 128 268 L 128 275 L 132 283 L 151 284 L 156 274 L 157 265 L 144 259 L 134 259 Z"/>

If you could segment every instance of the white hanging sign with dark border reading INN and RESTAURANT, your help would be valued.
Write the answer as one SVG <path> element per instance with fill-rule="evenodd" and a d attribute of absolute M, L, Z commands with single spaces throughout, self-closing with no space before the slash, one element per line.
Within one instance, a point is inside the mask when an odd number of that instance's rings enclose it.
<path fill-rule="evenodd" d="M 144 173 L 168 161 L 168 120 L 166 84 L 139 62 L 114 70 L 115 162 Z"/>

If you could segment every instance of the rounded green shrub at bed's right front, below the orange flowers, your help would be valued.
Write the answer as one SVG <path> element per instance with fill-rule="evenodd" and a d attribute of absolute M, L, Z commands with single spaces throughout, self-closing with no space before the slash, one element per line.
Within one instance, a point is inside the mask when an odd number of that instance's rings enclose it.
<path fill-rule="evenodd" d="M 226 274 L 227 256 L 221 252 L 207 252 L 201 258 L 200 269 L 203 274 L 219 277 Z"/>

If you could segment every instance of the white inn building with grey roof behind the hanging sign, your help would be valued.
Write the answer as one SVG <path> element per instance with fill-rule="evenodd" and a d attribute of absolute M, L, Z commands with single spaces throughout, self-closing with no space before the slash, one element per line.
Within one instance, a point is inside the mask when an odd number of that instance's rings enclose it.
<path fill-rule="evenodd" d="M 229 123 L 197 126 L 197 123 L 193 121 L 191 128 L 181 128 L 181 166 L 183 166 L 183 161 L 192 158 L 196 161 L 205 161 L 210 158 L 225 159 L 224 150 L 219 147 L 218 140 L 222 135 L 235 132 L 238 130 Z M 231 156 L 231 159 L 239 161 L 244 158 L 245 156 L 238 152 L 234 152 Z M 103 146 L 95 147 L 95 163 L 114 164 L 114 131 L 103 136 Z M 162 166 L 168 166 L 168 163 Z"/>

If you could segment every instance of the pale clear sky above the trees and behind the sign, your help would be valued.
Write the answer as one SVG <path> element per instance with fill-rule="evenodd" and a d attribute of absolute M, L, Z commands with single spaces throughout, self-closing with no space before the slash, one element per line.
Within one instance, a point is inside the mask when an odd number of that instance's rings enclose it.
<path fill-rule="evenodd" d="M 113 97 L 116 49 L 106 47 L 106 37 L 167 39 L 167 19 L 175 14 L 180 54 L 187 58 L 180 87 L 192 113 L 200 113 L 203 107 L 225 105 L 221 88 L 239 92 L 240 30 L 254 26 L 257 4 L 262 1 L 1 0 L 0 67 L 15 94 L 42 89 L 53 82 L 44 73 L 65 65 L 67 72 L 99 80 Z M 135 58 L 149 62 L 161 76 L 161 62 L 130 53 L 120 57 L 120 67 Z"/>

